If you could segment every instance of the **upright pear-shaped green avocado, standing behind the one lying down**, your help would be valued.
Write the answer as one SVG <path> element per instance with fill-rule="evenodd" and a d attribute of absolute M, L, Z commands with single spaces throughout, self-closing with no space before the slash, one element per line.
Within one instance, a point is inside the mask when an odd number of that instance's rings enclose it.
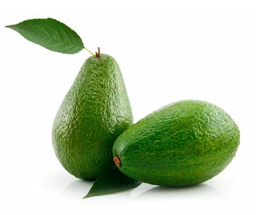
<path fill-rule="evenodd" d="M 114 141 L 132 123 L 117 62 L 105 54 L 89 57 L 54 119 L 54 152 L 76 178 L 94 180 L 114 165 Z"/>

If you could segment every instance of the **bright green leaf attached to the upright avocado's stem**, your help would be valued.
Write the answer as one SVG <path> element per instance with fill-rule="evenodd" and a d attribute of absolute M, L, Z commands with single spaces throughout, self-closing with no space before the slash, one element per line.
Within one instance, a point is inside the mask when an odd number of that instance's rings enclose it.
<path fill-rule="evenodd" d="M 25 20 L 6 27 L 19 32 L 28 41 L 54 52 L 73 54 L 84 49 L 80 36 L 64 23 L 53 18 Z"/>

